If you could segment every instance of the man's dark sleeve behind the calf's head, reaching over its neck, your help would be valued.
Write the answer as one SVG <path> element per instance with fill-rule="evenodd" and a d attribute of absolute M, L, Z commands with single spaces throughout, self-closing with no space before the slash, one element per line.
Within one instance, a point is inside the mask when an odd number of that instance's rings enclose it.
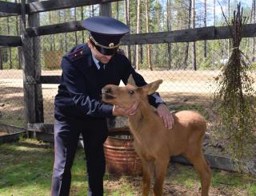
<path fill-rule="evenodd" d="M 127 84 L 128 78 L 129 78 L 130 74 L 132 74 L 135 84 L 138 87 L 146 85 L 147 84 L 146 81 L 139 73 L 135 72 L 134 68 L 130 65 L 130 61 L 126 58 L 126 60 L 124 62 L 125 62 L 124 63 L 125 68 L 124 68 L 124 73 L 122 76 L 123 83 Z M 148 100 L 150 102 L 150 105 L 154 106 L 154 108 L 158 108 L 159 104 L 162 104 L 162 103 L 165 104 L 163 102 L 163 100 L 161 99 L 158 92 L 154 92 L 152 95 L 148 96 Z"/>

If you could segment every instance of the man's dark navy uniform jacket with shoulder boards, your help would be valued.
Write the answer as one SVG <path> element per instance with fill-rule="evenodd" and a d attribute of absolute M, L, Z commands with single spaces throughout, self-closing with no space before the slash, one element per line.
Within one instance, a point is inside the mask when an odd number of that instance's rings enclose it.
<path fill-rule="evenodd" d="M 103 76 L 99 74 L 90 48 L 78 45 L 62 58 L 62 77 L 55 96 L 55 118 L 62 116 L 83 120 L 92 117 L 105 118 L 112 115 L 113 106 L 101 102 L 102 88 L 106 84 L 127 83 L 130 74 L 138 86 L 146 84 L 141 75 L 135 73 L 126 56 L 116 53 L 105 66 Z M 150 104 L 157 106 L 154 96 Z"/>

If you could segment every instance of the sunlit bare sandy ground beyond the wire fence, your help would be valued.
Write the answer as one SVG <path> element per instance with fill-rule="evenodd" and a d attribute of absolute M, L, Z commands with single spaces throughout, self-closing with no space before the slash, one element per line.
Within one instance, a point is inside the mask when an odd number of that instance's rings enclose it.
<path fill-rule="evenodd" d="M 207 102 L 214 92 L 214 71 L 140 71 L 150 82 L 162 79 L 158 89 L 163 99 L 172 104 L 184 102 Z M 42 71 L 42 75 L 61 75 L 61 70 Z M 0 70 L 0 118 L 9 122 L 24 120 L 24 98 L 21 70 Z M 53 123 L 54 96 L 57 84 L 42 84 L 44 115 L 46 123 Z"/>

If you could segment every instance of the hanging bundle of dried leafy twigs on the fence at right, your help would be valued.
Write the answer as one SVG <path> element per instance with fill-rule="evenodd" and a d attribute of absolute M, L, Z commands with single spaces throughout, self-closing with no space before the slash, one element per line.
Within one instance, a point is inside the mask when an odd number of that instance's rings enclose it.
<path fill-rule="evenodd" d="M 239 49 L 242 25 L 245 23 L 246 18 L 242 17 L 239 3 L 230 25 L 233 50 L 218 77 L 218 90 L 214 95 L 214 103 L 218 108 L 218 129 L 223 131 L 222 137 L 230 141 L 233 158 L 240 161 L 253 156 L 256 124 L 255 94 L 252 87 L 254 81 L 250 77 L 245 55 Z"/>

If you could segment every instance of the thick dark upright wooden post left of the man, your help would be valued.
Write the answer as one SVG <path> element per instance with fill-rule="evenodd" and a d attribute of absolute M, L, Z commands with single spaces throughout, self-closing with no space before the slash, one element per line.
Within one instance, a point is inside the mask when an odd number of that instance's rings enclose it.
<path fill-rule="evenodd" d="M 38 26 L 39 14 L 30 14 L 28 25 L 30 27 Z M 40 41 L 38 37 L 31 38 L 26 34 L 26 0 L 22 0 L 21 28 L 26 125 L 27 123 L 43 123 L 42 84 L 37 84 L 41 76 Z"/>

